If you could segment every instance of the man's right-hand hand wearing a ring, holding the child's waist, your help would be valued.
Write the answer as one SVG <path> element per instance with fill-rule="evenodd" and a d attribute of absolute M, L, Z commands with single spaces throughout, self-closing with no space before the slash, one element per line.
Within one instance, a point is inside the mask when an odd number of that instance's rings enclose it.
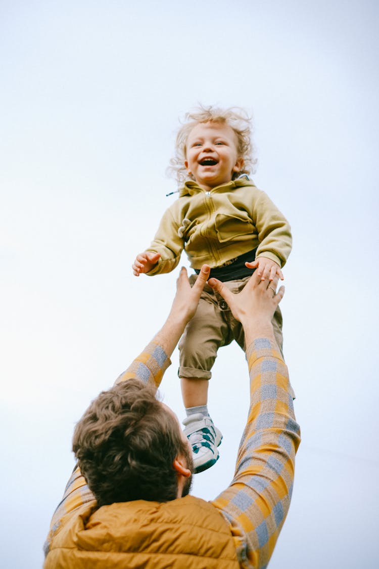
<path fill-rule="evenodd" d="M 284 296 L 284 286 L 276 292 L 278 280 L 275 276 L 272 282 L 267 283 L 255 271 L 244 289 L 233 294 L 218 279 L 209 279 L 209 286 L 226 300 L 234 318 L 243 325 L 246 345 L 257 337 L 274 340 L 271 320 Z"/>

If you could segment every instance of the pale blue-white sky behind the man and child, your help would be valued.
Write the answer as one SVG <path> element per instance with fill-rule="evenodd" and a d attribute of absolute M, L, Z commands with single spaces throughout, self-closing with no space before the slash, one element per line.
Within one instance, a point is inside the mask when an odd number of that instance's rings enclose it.
<path fill-rule="evenodd" d="M 293 228 L 284 349 L 302 428 L 270 569 L 379 566 L 378 15 L 368 0 L 0 0 L 1 566 L 35 569 L 73 468 L 74 423 L 163 324 L 177 271 L 133 277 L 176 182 L 178 117 L 254 117 L 255 183 Z M 185 257 L 183 263 L 187 265 Z M 162 393 L 184 417 L 177 353 Z M 223 348 L 232 478 L 248 409 Z"/>

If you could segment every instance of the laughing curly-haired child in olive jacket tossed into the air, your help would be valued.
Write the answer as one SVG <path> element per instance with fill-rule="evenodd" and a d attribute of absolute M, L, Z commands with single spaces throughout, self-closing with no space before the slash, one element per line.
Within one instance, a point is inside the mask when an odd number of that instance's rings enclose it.
<path fill-rule="evenodd" d="M 199 272 L 210 265 L 233 292 L 243 289 L 252 269 L 262 281 L 283 279 L 291 250 L 290 226 L 269 197 L 249 180 L 253 164 L 250 121 L 242 109 L 198 108 L 186 114 L 177 135 L 178 199 L 160 222 L 151 246 L 137 255 L 132 269 L 156 275 L 169 273 L 185 249 L 190 265 Z M 195 282 L 196 275 L 190 277 Z M 272 287 L 273 295 L 276 291 Z M 274 314 L 276 341 L 282 350 L 282 318 Z M 222 434 L 207 409 L 208 382 L 217 350 L 236 340 L 244 346 L 243 328 L 227 303 L 205 287 L 198 310 L 179 344 L 181 389 L 187 417 L 185 434 L 193 448 L 195 472 L 218 460 Z"/>

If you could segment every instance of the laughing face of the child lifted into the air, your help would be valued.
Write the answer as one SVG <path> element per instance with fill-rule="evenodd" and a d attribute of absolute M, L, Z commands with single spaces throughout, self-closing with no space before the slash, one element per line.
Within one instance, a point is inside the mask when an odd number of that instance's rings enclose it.
<path fill-rule="evenodd" d="M 230 182 L 234 172 L 243 167 L 234 130 L 222 122 L 201 122 L 194 126 L 188 136 L 186 156 L 186 170 L 205 190 Z"/>

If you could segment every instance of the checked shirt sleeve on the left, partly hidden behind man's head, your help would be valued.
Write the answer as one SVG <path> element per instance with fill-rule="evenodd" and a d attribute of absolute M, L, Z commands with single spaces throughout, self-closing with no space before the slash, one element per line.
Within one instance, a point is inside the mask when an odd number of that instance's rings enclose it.
<path fill-rule="evenodd" d="M 151 382 L 159 387 L 163 374 L 170 363 L 170 359 L 163 348 L 151 342 L 135 358 L 127 370 L 116 379 L 115 383 L 138 378 L 145 383 Z M 52 538 L 61 526 L 63 518 L 94 499 L 80 468 L 76 466 L 66 485 L 63 498 L 53 514 L 49 534 L 43 548 L 45 555 L 48 554 Z"/>

